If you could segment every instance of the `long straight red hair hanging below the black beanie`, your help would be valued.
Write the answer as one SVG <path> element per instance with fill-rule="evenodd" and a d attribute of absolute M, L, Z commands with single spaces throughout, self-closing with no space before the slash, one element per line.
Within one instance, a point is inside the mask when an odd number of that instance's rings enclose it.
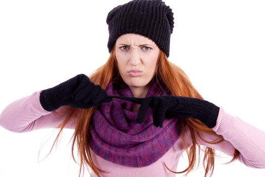
<path fill-rule="evenodd" d="M 115 46 L 113 49 L 115 49 Z M 111 52 L 108 61 L 104 65 L 96 69 L 92 74 L 90 74 L 89 78 L 95 84 L 99 84 L 102 87 L 102 89 L 106 89 L 107 84 L 109 83 L 110 80 L 112 80 L 113 82 L 121 81 L 122 78 L 118 71 L 117 60 L 115 57 L 115 50 Z M 180 67 L 170 62 L 166 54 L 163 51 L 160 51 L 160 54 L 158 56 L 158 60 L 156 63 L 154 79 L 158 81 L 157 78 L 160 78 L 160 80 L 163 81 L 168 86 L 169 90 L 171 91 L 171 95 L 203 99 L 201 95 L 198 93 L 198 91 L 194 88 L 192 83 L 190 82 L 186 73 Z M 97 176 L 100 176 L 99 175 L 100 172 L 107 172 L 107 171 L 97 168 L 94 165 L 93 159 L 90 153 L 89 143 L 88 143 L 91 138 L 90 131 L 89 131 L 89 124 L 90 124 L 91 116 L 95 108 L 96 107 L 92 107 L 89 109 L 74 109 L 71 107 L 66 107 L 66 110 L 64 111 L 65 113 L 67 113 L 66 119 L 63 121 L 62 124 L 58 126 L 58 128 L 60 128 L 60 131 L 57 135 L 57 138 L 54 144 L 51 147 L 51 150 L 52 150 L 55 143 L 58 142 L 59 136 L 63 128 L 71 120 L 71 118 L 73 118 L 73 116 L 76 115 L 77 121 L 75 125 L 75 131 L 72 137 L 73 138 L 72 157 L 74 161 L 76 162 L 74 153 L 73 153 L 74 146 L 76 144 L 77 149 L 78 149 L 78 156 L 80 156 L 79 177 L 81 175 L 81 169 L 84 170 L 84 163 L 86 163 L 94 171 L 94 173 Z M 186 172 L 185 175 L 187 175 L 191 170 L 194 169 L 194 166 L 196 164 L 197 146 L 198 146 L 199 154 L 200 154 L 200 150 L 202 149 L 198 145 L 195 139 L 195 135 L 198 135 L 198 137 L 201 138 L 205 142 L 207 141 L 204 140 L 200 136 L 199 132 L 206 132 L 207 134 L 215 135 L 218 141 L 207 142 L 210 144 L 221 143 L 222 141 L 224 141 L 224 138 L 221 135 L 217 135 L 213 129 L 208 128 L 198 119 L 194 119 L 194 118 L 189 118 L 185 120 L 183 119 L 180 121 L 180 125 L 181 125 L 180 126 L 181 127 L 181 138 L 182 138 L 186 153 L 188 155 L 189 165 L 185 170 L 180 171 L 180 172 L 176 172 L 176 171 L 169 169 L 165 163 L 164 165 L 171 172 L 174 172 L 174 173 Z M 184 131 L 185 126 L 188 126 L 190 130 L 190 134 L 191 134 L 192 145 L 190 147 L 187 146 L 187 142 L 185 138 L 186 137 L 185 131 Z M 209 147 L 205 147 L 205 150 L 202 150 L 202 151 L 204 152 L 204 158 L 203 158 L 203 166 L 205 169 L 204 176 L 206 177 L 208 174 L 209 176 L 211 176 L 213 174 L 214 166 L 215 166 L 215 150 Z M 228 163 L 235 161 L 238 158 L 239 154 L 240 154 L 239 151 L 235 149 L 233 159 Z M 198 163 L 199 162 L 200 162 L 200 156 L 198 158 Z"/>

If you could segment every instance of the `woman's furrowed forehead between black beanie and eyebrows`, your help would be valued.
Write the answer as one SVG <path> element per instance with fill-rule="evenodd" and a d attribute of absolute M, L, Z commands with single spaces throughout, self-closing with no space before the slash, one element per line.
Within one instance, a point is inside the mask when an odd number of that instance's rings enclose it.
<path fill-rule="evenodd" d="M 121 35 L 117 41 L 117 43 L 149 43 L 151 45 L 154 45 L 155 43 L 149 39 L 148 37 L 145 37 L 140 34 L 134 34 L 134 33 L 128 33 Z"/>

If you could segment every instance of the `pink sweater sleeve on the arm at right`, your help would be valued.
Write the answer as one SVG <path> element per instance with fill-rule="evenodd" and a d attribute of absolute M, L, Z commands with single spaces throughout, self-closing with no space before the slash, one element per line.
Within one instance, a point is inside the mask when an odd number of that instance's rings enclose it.
<path fill-rule="evenodd" d="M 238 160 L 246 166 L 265 168 L 265 132 L 248 124 L 240 118 L 228 114 L 220 108 L 217 124 L 213 130 L 222 135 L 225 141 L 218 144 L 209 144 L 197 139 L 198 144 L 204 145 L 233 156 L 234 150 L 240 152 Z M 216 136 L 201 134 L 207 141 L 216 141 Z"/>

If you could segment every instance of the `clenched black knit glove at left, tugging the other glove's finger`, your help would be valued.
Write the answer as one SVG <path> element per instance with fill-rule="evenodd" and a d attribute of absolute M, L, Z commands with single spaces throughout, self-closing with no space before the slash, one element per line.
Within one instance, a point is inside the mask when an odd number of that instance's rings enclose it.
<path fill-rule="evenodd" d="M 46 111 L 61 106 L 88 109 L 102 103 L 111 102 L 105 90 L 95 85 L 85 74 L 79 74 L 59 85 L 41 91 L 40 104 Z"/>

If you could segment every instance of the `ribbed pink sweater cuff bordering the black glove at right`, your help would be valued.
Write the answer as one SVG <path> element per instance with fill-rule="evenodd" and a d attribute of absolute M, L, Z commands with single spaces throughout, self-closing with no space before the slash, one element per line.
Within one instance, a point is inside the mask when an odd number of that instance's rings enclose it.
<path fill-rule="evenodd" d="M 217 123 L 216 126 L 213 127 L 213 130 L 216 134 L 222 135 L 234 126 L 234 122 L 233 116 L 226 113 L 223 107 L 220 107 Z"/>

